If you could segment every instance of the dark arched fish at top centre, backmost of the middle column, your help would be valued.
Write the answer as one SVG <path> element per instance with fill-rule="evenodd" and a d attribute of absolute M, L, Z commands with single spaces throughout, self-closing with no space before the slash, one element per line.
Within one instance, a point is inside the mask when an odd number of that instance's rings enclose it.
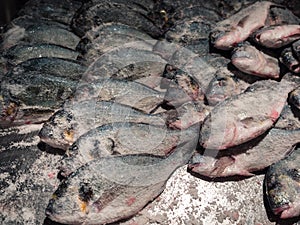
<path fill-rule="evenodd" d="M 73 18 L 72 28 L 78 35 L 83 36 L 94 26 L 117 22 L 140 29 L 154 38 L 160 37 L 162 31 L 147 18 L 146 14 L 130 4 L 105 1 L 80 10 Z"/>

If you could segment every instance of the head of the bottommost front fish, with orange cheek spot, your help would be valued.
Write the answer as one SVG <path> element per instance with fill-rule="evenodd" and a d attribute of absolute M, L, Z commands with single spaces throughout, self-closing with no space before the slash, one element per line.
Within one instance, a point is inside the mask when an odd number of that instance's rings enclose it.
<path fill-rule="evenodd" d="M 93 190 L 87 183 L 74 179 L 63 181 L 52 195 L 45 214 L 64 224 L 82 224 L 90 208 Z"/>

